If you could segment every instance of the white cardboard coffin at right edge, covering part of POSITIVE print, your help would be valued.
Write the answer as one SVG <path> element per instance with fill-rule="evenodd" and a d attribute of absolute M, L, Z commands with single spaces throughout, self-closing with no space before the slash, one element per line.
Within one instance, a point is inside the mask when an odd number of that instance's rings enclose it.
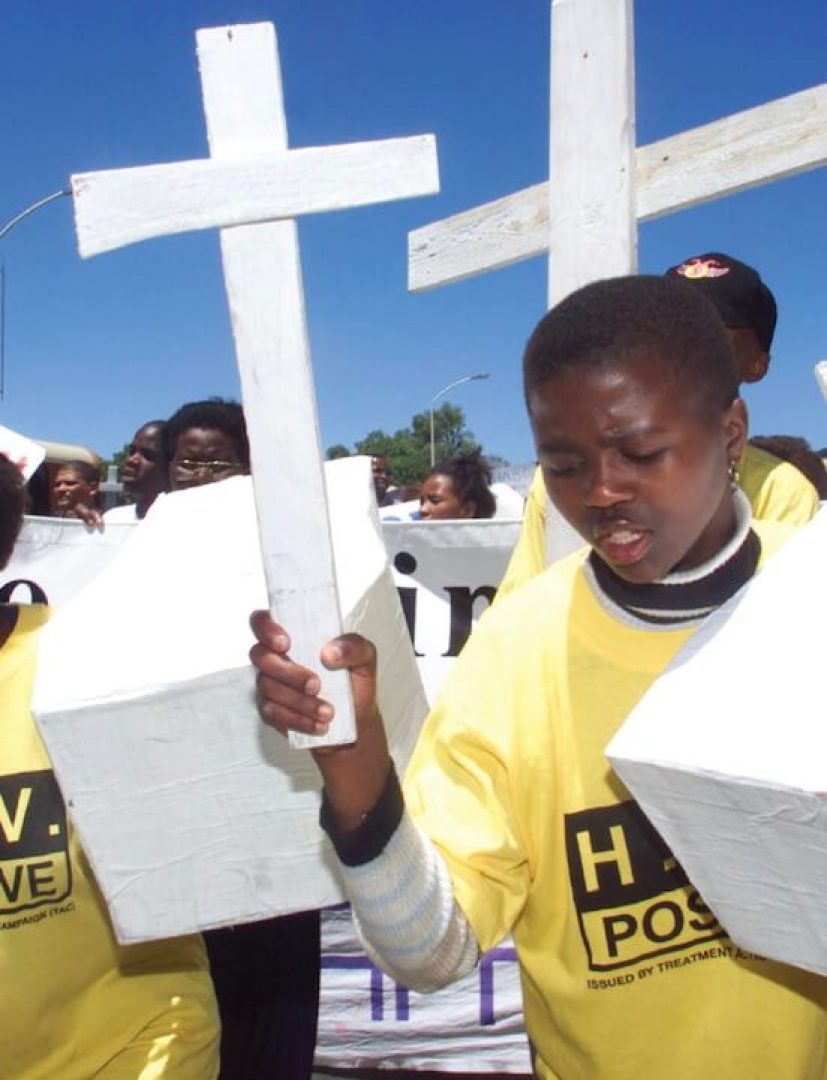
<path fill-rule="evenodd" d="M 827 514 L 711 616 L 607 756 L 742 948 L 827 974 Z"/>

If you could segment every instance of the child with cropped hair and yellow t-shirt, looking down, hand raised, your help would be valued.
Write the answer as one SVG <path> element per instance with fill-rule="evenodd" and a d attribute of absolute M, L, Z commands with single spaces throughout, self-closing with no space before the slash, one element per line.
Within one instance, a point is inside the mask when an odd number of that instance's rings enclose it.
<path fill-rule="evenodd" d="M 513 933 L 542 1080 L 827 1080 L 827 980 L 741 953 L 604 756 L 790 531 L 754 527 L 733 483 L 747 420 L 720 319 L 680 282 L 598 282 L 540 322 L 525 389 L 548 491 L 588 546 L 483 617 L 404 797 L 372 646 L 322 650 L 354 693 L 356 743 L 315 757 L 363 941 L 434 989 Z M 262 717 L 323 733 L 317 676 L 266 612 L 253 623 Z"/>

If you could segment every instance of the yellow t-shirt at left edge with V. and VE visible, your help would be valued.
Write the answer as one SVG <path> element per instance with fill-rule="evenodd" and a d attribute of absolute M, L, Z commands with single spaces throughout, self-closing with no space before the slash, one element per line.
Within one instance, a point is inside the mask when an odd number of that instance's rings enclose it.
<path fill-rule="evenodd" d="M 0 1076 L 212 1080 L 200 937 L 118 945 L 29 710 L 42 606 L 0 648 Z"/>

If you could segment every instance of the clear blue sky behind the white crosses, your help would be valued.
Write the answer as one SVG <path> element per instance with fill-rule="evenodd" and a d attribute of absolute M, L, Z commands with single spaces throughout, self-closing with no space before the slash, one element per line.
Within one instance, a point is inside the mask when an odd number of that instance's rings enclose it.
<path fill-rule="evenodd" d="M 322 437 L 406 426 L 471 372 L 461 405 L 485 448 L 531 460 L 519 387 L 544 310 L 543 259 L 406 292 L 410 229 L 547 176 L 546 0 L 56 0 L 3 11 L 0 220 L 70 174 L 201 158 L 194 30 L 275 23 L 292 146 L 434 132 L 438 195 L 302 220 Z M 637 141 L 827 81 L 824 0 L 638 0 Z M 758 267 L 781 319 L 758 433 L 827 444 L 813 364 L 827 357 L 827 170 L 662 218 L 640 269 L 708 249 Z M 91 260 L 69 199 L 0 241 L 6 370 L 0 423 L 109 455 L 185 401 L 238 396 L 214 233 Z M 274 418 L 275 422 L 275 418 Z"/>

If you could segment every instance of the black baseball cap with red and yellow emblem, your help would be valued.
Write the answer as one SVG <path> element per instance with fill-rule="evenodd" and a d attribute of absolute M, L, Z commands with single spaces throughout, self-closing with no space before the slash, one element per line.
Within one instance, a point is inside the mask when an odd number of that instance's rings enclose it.
<path fill-rule="evenodd" d="M 721 252 L 691 255 L 669 267 L 666 278 L 682 278 L 713 301 L 726 326 L 754 329 L 764 352 L 770 351 L 778 309 L 761 275 L 746 262 Z"/>

